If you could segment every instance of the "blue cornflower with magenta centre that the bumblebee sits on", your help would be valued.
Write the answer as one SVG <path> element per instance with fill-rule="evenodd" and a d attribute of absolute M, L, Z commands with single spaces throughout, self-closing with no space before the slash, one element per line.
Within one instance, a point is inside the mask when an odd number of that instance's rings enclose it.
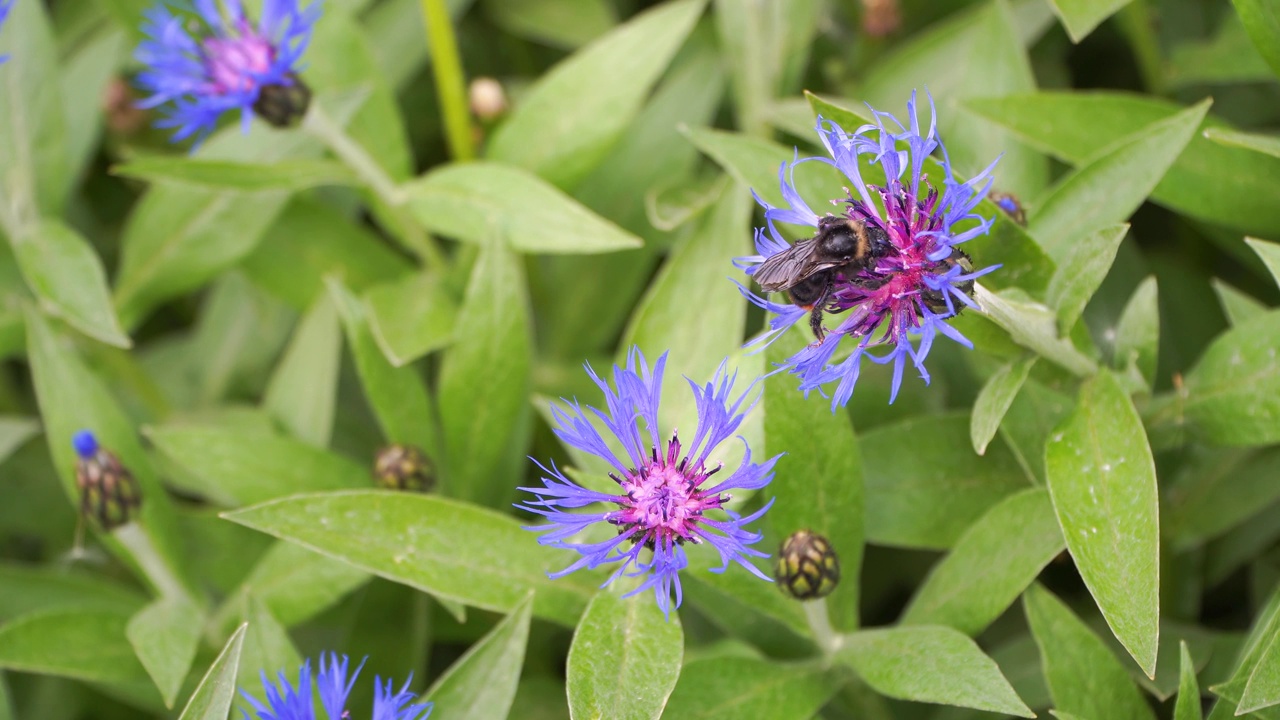
<path fill-rule="evenodd" d="M 928 132 L 920 132 L 914 92 L 906 111 L 910 128 L 893 115 L 872 109 L 874 124 L 863 126 L 852 133 L 819 117 L 815 129 L 831 158 L 803 158 L 782 164 L 778 179 L 786 205 L 776 208 L 756 195 L 756 201 L 764 206 L 767 224 L 755 232 L 758 255 L 735 260 L 739 268 L 751 274 L 765 259 L 791 249 L 774 223 L 818 227 L 820 218 L 788 181 L 796 165 L 810 160 L 835 165 L 852 183 L 855 190 L 846 188 L 846 199 L 832 200 L 833 205 L 845 205 L 841 219 L 878 228 L 887 236 L 883 252 L 868 266 L 832 269 L 832 287 L 818 307 L 772 302 L 739 286 L 751 302 L 776 315 L 769 320 L 769 332 L 756 343 L 773 342 L 810 311 L 847 313 L 835 331 L 782 363 L 790 373 L 799 375 L 800 389 L 805 393 L 836 382 L 831 402 L 833 411 L 852 396 L 863 357 L 878 364 L 893 364 L 892 402 L 901 387 L 908 359 L 924 382 L 929 382 L 924 359 L 938 334 L 973 347 L 946 320 L 965 306 L 975 307 L 972 299 L 974 279 L 998 268 L 974 270 L 969 256 L 957 247 L 986 234 L 995 220 L 973 210 L 991 190 L 989 178 L 996 163 L 968 182 L 957 182 L 938 138 L 933 100 L 929 99 L 932 117 Z M 924 159 L 934 150 L 942 152 L 946 173 L 941 193 L 924 176 Z M 887 178 L 884 187 L 863 181 L 858 167 L 863 156 L 883 168 Z M 956 225 L 966 220 L 977 220 L 977 224 L 957 232 Z M 854 343 L 852 351 L 847 359 L 833 364 L 832 357 L 846 337 Z M 877 346 L 887 346 L 890 351 L 877 355 L 872 352 Z"/>

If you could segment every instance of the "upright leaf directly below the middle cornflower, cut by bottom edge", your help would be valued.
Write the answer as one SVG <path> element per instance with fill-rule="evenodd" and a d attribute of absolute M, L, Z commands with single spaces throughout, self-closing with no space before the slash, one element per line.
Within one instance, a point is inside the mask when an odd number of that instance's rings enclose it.
<path fill-rule="evenodd" d="M 622 598 L 599 592 L 586 606 L 568 650 L 567 685 L 573 720 L 655 720 L 680 678 L 685 633 L 648 592 Z"/>

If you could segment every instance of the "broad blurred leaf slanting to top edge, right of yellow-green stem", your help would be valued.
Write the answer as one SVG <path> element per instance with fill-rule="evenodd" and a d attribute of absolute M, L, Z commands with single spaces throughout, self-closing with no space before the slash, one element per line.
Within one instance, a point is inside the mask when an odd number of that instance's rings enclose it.
<path fill-rule="evenodd" d="M 704 5 L 653 8 L 552 68 L 494 133 L 489 158 L 577 184 L 635 118 Z"/>

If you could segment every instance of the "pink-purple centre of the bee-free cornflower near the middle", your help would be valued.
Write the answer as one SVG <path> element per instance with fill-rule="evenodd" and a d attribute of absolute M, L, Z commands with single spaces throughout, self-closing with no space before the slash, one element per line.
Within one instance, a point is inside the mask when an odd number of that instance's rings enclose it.
<path fill-rule="evenodd" d="M 625 478 L 611 474 L 623 495 L 616 498 L 620 510 L 609 512 L 608 521 L 620 527 L 622 534 L 646 547 L 671 547 L 686 541 L 699 542 L 696 525 L 708 510 L 728 502 L 727 495 L 709 495 L 700 486 L 719 468 L 708 471 L 701 464 L 689 466 L 681 459 L 680 438 L 672 436 L 664 455 L 653 448 L 650 460 Z"/>

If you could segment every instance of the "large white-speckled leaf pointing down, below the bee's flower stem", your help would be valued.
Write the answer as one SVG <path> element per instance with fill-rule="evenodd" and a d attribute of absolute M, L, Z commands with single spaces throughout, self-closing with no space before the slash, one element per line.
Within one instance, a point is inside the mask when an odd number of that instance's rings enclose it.
<path fill-rule="evenodd" d="M 1044 447 L 1044 471 L 1084 584 L 1116 639 L 1153 676 L 1160 489 L 1142 419 L 1110 372 L 1080 387 L 1075 411 Z"/>

